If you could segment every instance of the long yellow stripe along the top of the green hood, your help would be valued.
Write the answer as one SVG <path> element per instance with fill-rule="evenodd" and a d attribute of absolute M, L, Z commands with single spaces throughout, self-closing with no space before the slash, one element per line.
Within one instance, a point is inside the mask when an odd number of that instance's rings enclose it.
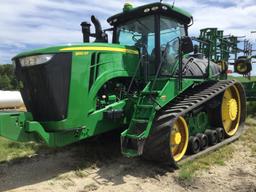
<path fill-rule="evenodd" d="M 138 55 L 139 52 L 132 49 L 125 48 L 113 48 L 113 47 L 67 47 L 60 49 L 60 51 L 112 51 L 121 53 L 130 53 Z"/>

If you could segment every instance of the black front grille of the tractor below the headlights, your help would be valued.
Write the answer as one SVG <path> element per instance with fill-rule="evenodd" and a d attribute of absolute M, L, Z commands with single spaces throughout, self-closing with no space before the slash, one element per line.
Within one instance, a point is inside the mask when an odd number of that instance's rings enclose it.
<path fill-rule="evenodd" d="M 23 83 L 21 94 L 36 121 L 60 121 L 67 117 L 71 76 L 71 53 L 58 53 L 49 62 L 21 67 L 16 76 Z"/>

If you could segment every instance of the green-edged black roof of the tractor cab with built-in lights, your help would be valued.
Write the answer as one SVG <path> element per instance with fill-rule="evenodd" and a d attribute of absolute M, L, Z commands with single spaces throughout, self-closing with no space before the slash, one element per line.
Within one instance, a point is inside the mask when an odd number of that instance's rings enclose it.
<path fill-rule="evenodd" d="M 120 23 L 127 22 L 129 20 L 143 17 L 147 15 L 160 14 L 167 17 L 172 17 L 177 19 L 182 24 L 190 24 L 193 20 L 193 17 L 188 12 L 174 7 L 167 3 L 151 3 L 143 5 L 140 7 L 131 8 L 129 10 L 123 11 L 119 14 L 113 15 L 107 19 L 110 25 L 118 25 Z"/>

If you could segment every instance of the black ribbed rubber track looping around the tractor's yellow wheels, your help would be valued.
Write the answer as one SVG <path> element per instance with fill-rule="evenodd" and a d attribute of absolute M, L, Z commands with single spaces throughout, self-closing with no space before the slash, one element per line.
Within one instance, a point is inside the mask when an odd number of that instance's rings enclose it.
<path fill-rule="evenodd" d="M 159 111 L 159 114 L 153 122 L 152 132 L 144 145 L 143 158 L 158 162 L 160 161 L 165 164 L 168 162 L 172 167 L 177 167 L 178 164 L 171 157 L 169 148 L 169 134 L 174 122 L 179 116 L 184 116 L 193 109 L 203 106 L 207 101 L 210 101 L 223 93 L 227 88 L 237 83 L 238 82 L 235 80 L 202 83 L 190 88 L 188 91 L 179 95 L 174 101 L 170 102 L 164 109 Z M 245 96 L 242 95 L 242 97 Z M 241 104 L 241 106 L 243 107 L 244 104 Z M 244 119 L 244 117 L 241 117 L 242 122 Z M 209 147 L 198 154 L 188 156 L 187 158 L 185 157 L 180 163 L 183 163 L 188 159 L 192 160 L 197 158 L 198 156 L 216 150 L 220 146 L 234 141 L 241 135 L 241 132 L 242 129 L 239 128 L 239 131 L 235 136 L 228 138 L 215 146 Z"/>

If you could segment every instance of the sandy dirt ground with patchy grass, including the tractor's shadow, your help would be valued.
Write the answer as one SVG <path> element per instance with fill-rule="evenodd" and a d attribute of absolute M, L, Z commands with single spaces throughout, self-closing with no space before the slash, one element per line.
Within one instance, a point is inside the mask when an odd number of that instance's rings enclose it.
<path fill-rule="evenodd" d="M 256 144 L 251 139 L 231 144 L 234 152 L 223 165 L 200 169 L 186 182 L 179 180 L 179 171 L 122 157 L 118 139 L 100 137 L 0 164 L 0 191 L 256 192 Z"/>

